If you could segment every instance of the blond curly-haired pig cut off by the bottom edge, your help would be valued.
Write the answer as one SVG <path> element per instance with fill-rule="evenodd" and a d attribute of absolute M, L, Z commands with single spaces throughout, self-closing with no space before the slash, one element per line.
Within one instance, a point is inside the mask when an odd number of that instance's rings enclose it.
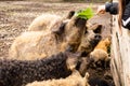
<path fill-rule="evenodd" d="M 90 86 L 88 84 L 89 74 L 86 73 L 84 77 L 78 71 L 74 71 L 68 77 L 60 80 L 48 80 L 42 82 L 29 83 L 26 86 Z"/>

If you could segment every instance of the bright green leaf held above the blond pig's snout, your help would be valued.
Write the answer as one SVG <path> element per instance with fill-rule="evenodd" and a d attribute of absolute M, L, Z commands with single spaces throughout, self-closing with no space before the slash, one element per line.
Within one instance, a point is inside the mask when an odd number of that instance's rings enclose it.
<path fill-rule="evenodd" d="M 76 16 L 84 19 L 89 19 L 94 15 L 94 12 L 91 8 L 87 8 L 86 10 L 82 10 L 80 12 L 76 13 Z"/>

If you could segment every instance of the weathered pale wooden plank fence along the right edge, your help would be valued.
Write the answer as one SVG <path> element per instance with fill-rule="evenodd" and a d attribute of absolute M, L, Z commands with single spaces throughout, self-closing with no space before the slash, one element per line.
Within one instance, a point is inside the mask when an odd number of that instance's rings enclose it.
<path fill-rule="evenodd" d="M 116 0 L 115 0 L 116 1 Z M 113 15 L 110 69 L 116 86 L 130 86 L 130 30 L 121 27 L 118 15 Z"/>

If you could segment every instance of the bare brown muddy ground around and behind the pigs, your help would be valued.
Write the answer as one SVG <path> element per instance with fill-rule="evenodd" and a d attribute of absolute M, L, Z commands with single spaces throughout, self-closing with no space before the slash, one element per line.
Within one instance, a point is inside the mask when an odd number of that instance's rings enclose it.
<path fill-rule="evenodd" d="M 98 5 L 92 4 L 94 11 Z M 61 16 L 69 11 L 81 10 L 89 6 L 89 3 L 54 3 L 54 2 L 28 2 L 28 1 L 0 1 L 0 58 L 6 58 L 13 40 L 22 32 L 27 31 L 32 19 L 42 13 L 54 13 Z M 103 25 L 103 37 L 110 34 L 110 15 L 95 15 L 89 20 L 92 24 Z M 93 74 L 98 72 L 93 70 Z M 109 69 L 101 74 L 110 74 Z M 110 78 L 112 80 L 112 78 Z M 113 83 L 113 81 L 109 81 Z M 112 85 L 113 86 L 113 85 Z"/>

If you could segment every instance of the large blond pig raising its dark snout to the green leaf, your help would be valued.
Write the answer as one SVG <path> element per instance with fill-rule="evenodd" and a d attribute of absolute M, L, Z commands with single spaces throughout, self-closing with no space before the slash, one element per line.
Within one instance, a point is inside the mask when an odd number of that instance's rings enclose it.
<path fill-rule="evenodd" d="M 58 22 L 61 26 L 51 31 L 24 32 L 14 40 L 9 57 L 35 60 L 64 51 L 76 52 L 86 30 L 86 19 L 73 16 L 68 22 Z"/>

